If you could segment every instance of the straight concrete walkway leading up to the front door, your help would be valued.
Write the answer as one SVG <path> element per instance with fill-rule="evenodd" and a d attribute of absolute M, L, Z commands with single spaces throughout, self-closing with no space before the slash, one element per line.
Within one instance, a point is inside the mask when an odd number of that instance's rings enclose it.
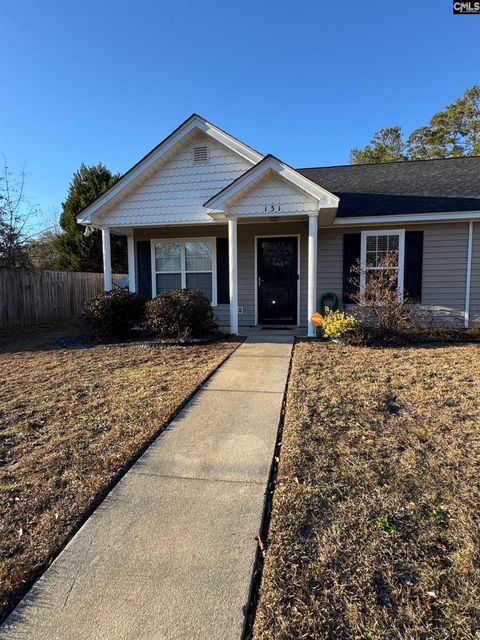
<path fill-rule="evenodd" d="M 237 349 L 0 627 L 2 640 L 240 640 L 291 342 L 252 336 Z"/>

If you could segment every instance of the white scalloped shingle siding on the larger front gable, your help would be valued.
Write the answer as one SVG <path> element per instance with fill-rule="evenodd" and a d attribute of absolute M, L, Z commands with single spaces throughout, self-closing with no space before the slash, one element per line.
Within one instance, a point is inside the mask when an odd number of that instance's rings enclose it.
<path fill-rule="evenodd" d="M 209 162 L 194 164 L 193 148 L 207 145 Z M 102 224 L 155 225 L 211 222 L 203 204 L 252 163 L 228 147 L 197 133 L 167 162 L 102 217 Z"/>

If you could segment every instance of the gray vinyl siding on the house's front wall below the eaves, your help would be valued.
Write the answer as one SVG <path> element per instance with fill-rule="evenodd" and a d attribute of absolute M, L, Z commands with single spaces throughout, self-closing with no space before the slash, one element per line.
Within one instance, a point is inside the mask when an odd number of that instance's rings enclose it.
<path fill-rule="evenodd" d="M 372 228 L 372 227 L 370 227 Z M 388 227 L 383 227 L 388 228 Z M 435 324 L 463 325 L 467 268 L 468 223 L 426 225 L 395 225 L 405 230 L 423 230 L 422 305 L 432 311 L 430 321 Z M 362 231 L 361 228 L 319 229 L 318 233 L 318 296 L 327 291 L 336 293 L 342 307 L 343 293 L 343 235 Z M 300 317 L 307 323 L 307 254 L 308 221 L 238 225 L 238 304 L 240 326 L 252 326 L 255 318 L 255 236 L 300 235 Z M 151 238 L 181 238 L 198 236 L 226 237 L 227 225 L 198 225 L 137 229 L 136 240 Z M 471 319 L 480 324 L 480 223 L 474 224 Z M 220 326 L 229 326 L 229 305 L 215 307 Z"/>

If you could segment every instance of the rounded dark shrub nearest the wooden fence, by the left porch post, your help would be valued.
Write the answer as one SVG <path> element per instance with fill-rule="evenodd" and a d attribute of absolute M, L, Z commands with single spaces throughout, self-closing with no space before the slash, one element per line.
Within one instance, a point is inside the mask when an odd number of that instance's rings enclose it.
<path fill-rule="evenodd" d="M 87 302 L 81 321 L 87 332 L 98 340 L 116 340 L 142 321 L 145 311 L 143 298 L 125 289 L 102 293 Z"/>

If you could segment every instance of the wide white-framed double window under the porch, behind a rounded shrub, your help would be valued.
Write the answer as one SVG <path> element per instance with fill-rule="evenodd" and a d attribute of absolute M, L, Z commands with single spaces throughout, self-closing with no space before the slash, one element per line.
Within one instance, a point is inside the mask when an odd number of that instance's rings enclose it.
<path fill-rule="evenodd" d="M 217 304 L 215 239 L 152 240 L 154 296 L 173 289 L 198 290 Z"/>

